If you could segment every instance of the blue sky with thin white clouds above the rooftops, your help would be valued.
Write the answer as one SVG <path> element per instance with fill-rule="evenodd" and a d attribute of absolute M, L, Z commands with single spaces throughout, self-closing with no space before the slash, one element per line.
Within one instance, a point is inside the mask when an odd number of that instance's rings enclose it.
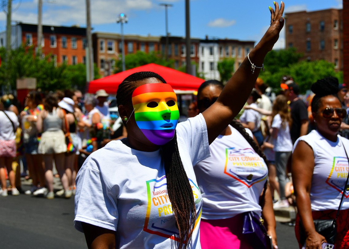
<path fill-rule="evenodd" d="M 165 8 L 170 3 L 169 32 L 185 36 L 185 0 L 90 0 L 94 31 L 120 33 L 116 18 L 125 13 L 125 34 L 165 35 Z M 1 0 L 3 2 L 3 0 Z M 5 0 L 5 2 L 7 2 Z M 43 24 L 86 27 L 85 0 L 43 0 Z M 342 8 L 342 0 L 285 0 L 285 13 Z M 38 0 L 12 0 L 12 20 L 37 23 Z M 270 0 L 191 0 L 191 37 L 258 41 L 269 27 Z M 5 8 L 6 9 L 6 8 Z M 0 32 L 6 29 L 6 14 L 0 12 Z M 274 48 L 284 46 L 284 33 Z"/>

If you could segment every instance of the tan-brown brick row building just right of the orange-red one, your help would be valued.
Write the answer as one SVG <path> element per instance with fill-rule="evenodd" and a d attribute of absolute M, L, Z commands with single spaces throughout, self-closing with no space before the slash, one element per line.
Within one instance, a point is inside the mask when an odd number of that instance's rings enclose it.
<path fill-rule="evenodd" d="M 159 51 L 158 36 L 124 35 L 125 55 L 143 51 L 145 53 Z M 122 43 L 118 33 L 95 32 L 92 34 L 94 62 L 103 76 L 113 74 L 115 62 L 121 58 Z"/>

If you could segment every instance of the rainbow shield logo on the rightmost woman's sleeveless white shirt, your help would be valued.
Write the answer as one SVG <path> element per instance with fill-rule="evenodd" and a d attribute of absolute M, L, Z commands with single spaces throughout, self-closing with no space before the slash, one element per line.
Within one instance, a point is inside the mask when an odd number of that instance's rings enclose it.
<path fill-rule="evenodd" d="M 333 157 L 333 165 L 328 175 L 326 183 L 332 188 L 343 193 L 344 184 L 348 176 L 348 159 L 346 157 Z M 349 197 L 349 191 L 346 189 L 344 193 L 346 198 Z"/>

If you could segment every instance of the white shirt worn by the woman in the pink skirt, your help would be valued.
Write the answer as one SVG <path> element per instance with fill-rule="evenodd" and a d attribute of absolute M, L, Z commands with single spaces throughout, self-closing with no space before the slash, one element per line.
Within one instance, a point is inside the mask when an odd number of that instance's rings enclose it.
<path fill-rule="evenodd" d="M 227 219 L 254 211 L 268 176 L 264 160 L 235 128 L 210 144 L 211 157 L 194 167 L 203 200 L 203 219 Z"/>

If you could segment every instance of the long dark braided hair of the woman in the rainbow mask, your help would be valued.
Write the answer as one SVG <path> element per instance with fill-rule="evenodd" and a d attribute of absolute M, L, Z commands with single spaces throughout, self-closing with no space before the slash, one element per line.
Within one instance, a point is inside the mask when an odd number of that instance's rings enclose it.
<path fill-rule="evenodd" d="M 147 78 L 157 78 L 166 84 L 166 81 L 153 72 L 138 72 L 131 74 L 119 85 L 116 99 L 117 105 L 132 105 L 132 93 Z M 179 232 L 178 248 L 187 248 L 195 226 L 196 209 L 193 190 L 180 158 L 177 133 L 173 139 L 161 146 L 162 158 L 165 166 L 167 190 L 172 204 L 172 211 L 176 219 Z"/>

